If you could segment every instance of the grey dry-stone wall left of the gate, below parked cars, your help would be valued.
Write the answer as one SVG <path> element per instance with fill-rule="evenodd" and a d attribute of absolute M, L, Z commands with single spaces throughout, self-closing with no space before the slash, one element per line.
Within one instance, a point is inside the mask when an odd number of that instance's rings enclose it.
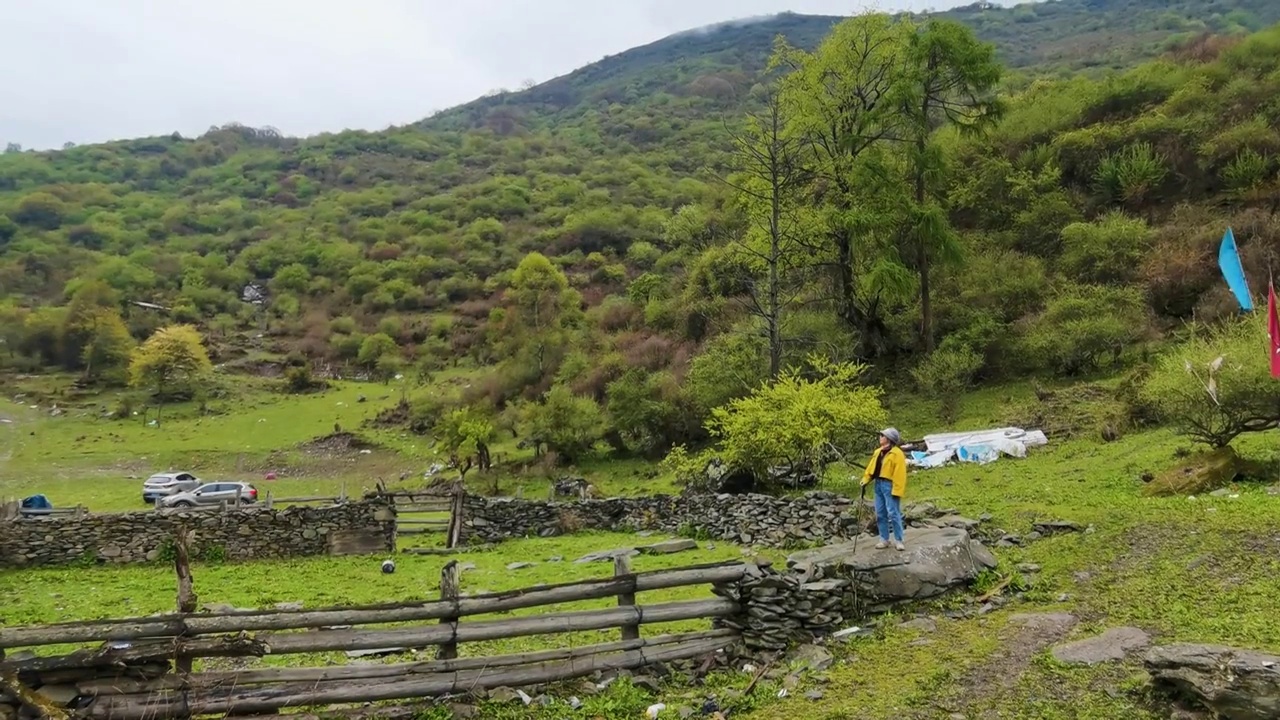
<path fill-rule="evenodd" d="M 20 518 L 0 521 L 0 568 L 155 561 L 166 556 L 180 527 L 195 529 L 192 552 L 204 559 L 384 552 L 396 539 L 394 515 L 380 502 Z"/>

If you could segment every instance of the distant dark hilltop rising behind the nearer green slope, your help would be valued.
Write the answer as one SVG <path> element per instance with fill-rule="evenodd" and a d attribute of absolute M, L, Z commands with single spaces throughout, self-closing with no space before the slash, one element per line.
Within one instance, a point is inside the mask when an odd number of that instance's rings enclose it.
<path fill-rule="evenodd" d="M 1204 33 L 1243 35 L 1280 22 L 1267 0 L 1055 0 L 1014 8 L 974 3 L 937 13 L 992 42 L 1016 77 L 1125 69 Z M 783 13 L 689 31 L 609 55 L 518 92 L 495 91 L 424 120 L 424 128 L 541 127 L 602 104 L 654 95 L 736 100 L 764 69 L 778 35 L 812 49 L 844 18 Z"/>

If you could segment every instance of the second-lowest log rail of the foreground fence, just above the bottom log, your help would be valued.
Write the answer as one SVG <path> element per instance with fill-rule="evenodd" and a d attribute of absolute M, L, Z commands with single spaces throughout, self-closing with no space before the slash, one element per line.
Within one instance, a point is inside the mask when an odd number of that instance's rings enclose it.
<path fill-rule="evenodd" d="M 328 667 L 268 667 L 261 670 L 228 670 L 218 673 L 198 673 L 184 678 L 164 675 L 151 679 L 102 678 L 74 683 L 84 694 L 137 694 L 159 691 L 178 691 L 187 688 L 214 688 L 219 685 L 264 685 L 275 683 L 319 683 L 326 680 L 369 680 L 374 678 L 394 678 L 398 675 L 417 675 L 430 673 L 458 673 L 480 667 L 509 667 L 529 662 L 549 660 L 571 660 L 600 652 L 621 652 L 626 650 L 652 648 L 664 644 L 686 643 L 701 639 L 731 639 L 737 630 L 728 628 L 657 635 L 648 639 L 590 644 L 584 647 L 544 650 L 489 657 L 463 657 L 458 660 L 435 660 L 430 662 L 378 662 L 361 665 L 339 665 Z"/>

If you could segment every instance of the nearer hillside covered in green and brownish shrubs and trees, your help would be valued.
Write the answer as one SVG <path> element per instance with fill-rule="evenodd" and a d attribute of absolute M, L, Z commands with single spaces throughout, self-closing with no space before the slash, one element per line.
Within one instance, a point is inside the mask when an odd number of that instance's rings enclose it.
<path fill-rule="evenodd" d="M 1262 14 L 1243 6 L 1176 5 L 1219 27 L 1235 18 L 1226 29 Z M 1018 24 L 1027 8 L 978 14 L 989 13 Z M 1193 314 L 1230 310 L 1212 263 L 1228 224 L 1254 277 L 1280 242 L 1280 28 L 1041 78 L 1005 91 L 1000 114 L 978 110 L 1007 47 L 992 55 L 946 22 L 833 32 L 813 54 L 785 50 L 800 69 L 772 104 L 773 85 L 744 72 L 749 100 L 653 91 L 554 123 L 440 118 L 444 129 L 310 140 L 230 126 L 8 152 L 0 359 L 119 383 L 133 343 L 197 323 L 215 363 L 266 352 L 388 377 L 474 364 L 485 375 L 465 407 L 538 400 L 549 427 L 580 420 L 573 442 L 609 429 L 614 445 L 659 448 L 696 439 L 710 409 L 774 368 L 813 369 L 814 352 L 914 368 L 940 393 L 1120 366 Z M 888 74 L 842 55 L 868 37 L 886 38 Z M 909 105 L 859 109 L 812 85 L 827 70 L 847 73 L 850 92 L 888 77 L 884 96 L 909 97 L 927 47 L 986 88 L 966 132 L 964 113 L 915 122 Z M 773 251 L 749 167 L 759 155 L 744 150 L 768 145 L 771 105 L 786 115 L 773 147 L 794 170 Z M 845 135 L 823 156 L 829 128 Z M 777 313 L 763 302 L 769 277 Z M 449 407 L 411 420 L 433 427 Z M 476 427 L 458 413 L 458 428 Z"/>

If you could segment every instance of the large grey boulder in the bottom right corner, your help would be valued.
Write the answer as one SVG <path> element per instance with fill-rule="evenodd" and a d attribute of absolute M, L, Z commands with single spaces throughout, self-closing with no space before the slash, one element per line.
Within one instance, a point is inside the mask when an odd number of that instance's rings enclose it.
<path fill-rule="evenodd" d="M 1147 651 L 1157 688 L 1194 698 L 1224 720 L 1280 717 L 1280 656 L 1216 644 Z"/>

